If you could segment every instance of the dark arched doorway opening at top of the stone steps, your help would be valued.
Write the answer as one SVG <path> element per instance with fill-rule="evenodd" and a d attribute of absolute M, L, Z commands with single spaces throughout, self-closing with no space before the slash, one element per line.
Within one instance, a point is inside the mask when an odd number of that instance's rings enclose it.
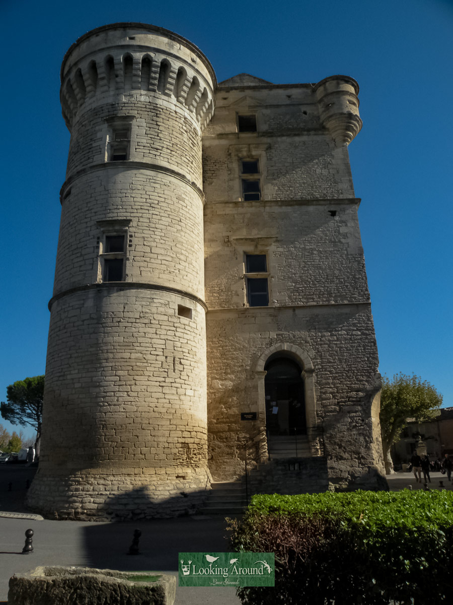
<path fill-rule="evenodd" d="M 269 435 L 305 435 L 304 382 L 292 359 L 278 357 L 265 365 L 266 428 Z"/>

